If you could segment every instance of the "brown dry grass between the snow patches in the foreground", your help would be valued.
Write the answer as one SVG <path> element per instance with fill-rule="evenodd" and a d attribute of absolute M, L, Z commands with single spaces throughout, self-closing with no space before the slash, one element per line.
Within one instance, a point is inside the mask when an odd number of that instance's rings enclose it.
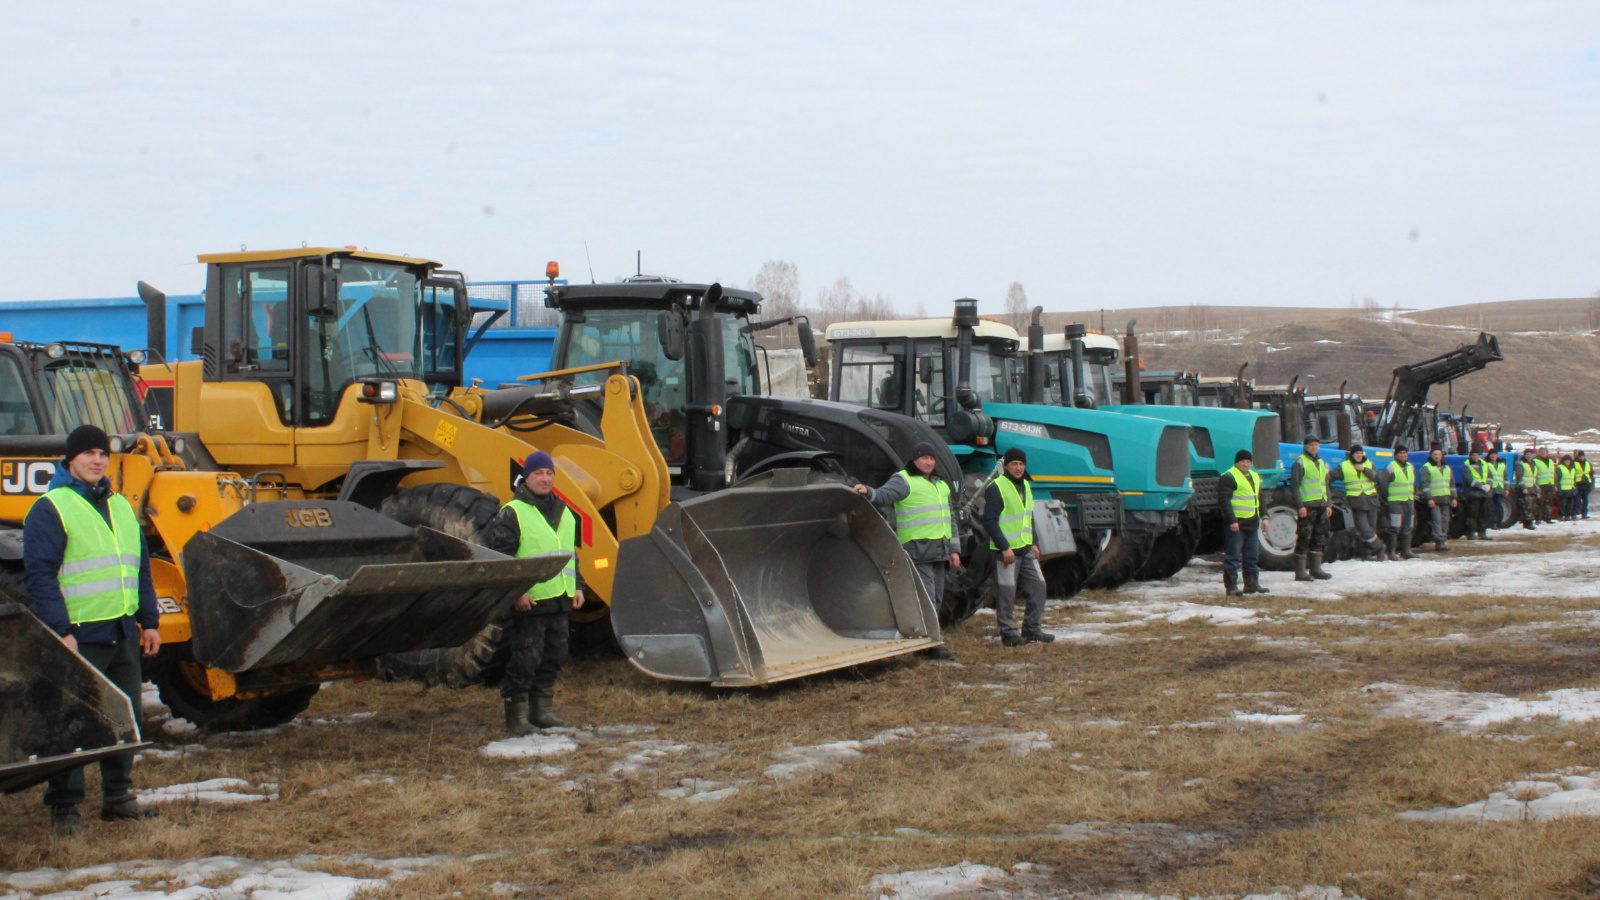
<path fill-rule="evenodd" d="M 1592 764 L 1592 727 L 1520 722 L 1494 732 L 1517 740 L 1485 740 L 1379 717 L 1384 698 L 1360 689 L 1389 681 L 1518 695 L 1597 685 L 1600 652 L 1560 625 L 1586 602 L 1368 596 L 1296 618 L 1288 610 L 1304 599 L 1261 599 L 1258 625 L 1133 626 L 1106 645 L 1006 650 L 981 617 L 950 636 L 960 666 L 899 661 L 760 692 L 672 685 L 618 660 L 584 660 L 563 676 L 560 711 L 654 730 L 586 743 L 563 759 L 483 756 L 499 737 L 488 690 L 333 685 L 307 717 L 373 716 L 202 735 L 211 751 L 136 769 L 142 785 L 277 781 L 280 801 L 170 804 L 154 823 L 93 822 L 88 838 L 58 841 L 35 790 L 0 801 L 0 870 L 214 854 L 496 854 L 426 870 L 397 882 L 397 897 L 488 897 L 494 882 L 526 897 L 859 897 L 874 873 L 960 860 L 1053 866 L 1038 890 L 1054 895 L 1326 884 L 1363 897 L 1552 897 L 1584 884 L 1600 863 L 1590 820 L 1467 826 L 1394 814 Z M 1083 605 L 1053 607 L 1048 623 L 1085 615 Z M 1429 641 L 1450 634 L 1467 639 Z M 1234 719 L 1288 711 L 1307 724 Z M 794 780 L 763 773 L 774 751 L 890 729 L 920 735 Z M 1016 756 L 968 740 L 1024 730 L 1043 732 L 1051 746 Z M 608 775 L 638 740 L 693 746 Z M 546 762 L 565 773 L 530 772 Z M 747 783 L 714 802 L 656 794 L 682 778 Z M 562 780 L 582 786 L 563 791 Z M 1051 828 L 1075 823 L 1072 839 Z M 349 862 L 317 868 L 374 874 Z"/>

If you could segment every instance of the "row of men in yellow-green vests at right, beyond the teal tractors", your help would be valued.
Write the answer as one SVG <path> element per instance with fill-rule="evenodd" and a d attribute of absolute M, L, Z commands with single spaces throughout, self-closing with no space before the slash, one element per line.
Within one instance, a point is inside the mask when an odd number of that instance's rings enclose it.
<path fill-rule="evenodd" d="M 1451 512 L 1466 516 L 1466 538 L 1486 541 L 1488 528 L 1504 520 L 1506 503 L 1523 528 L 1534 522 L 1587 519 L 1589 493 L 1594 490 L 1594 466 L 1579 450 L 1576 455 L 1550 456 L 1547 448 L 1523 453 L 1517 471 L 1509 472 L 1498 450 L 1474 448 L 1462 464 L 1462 484 L 1445 463 L 1445 452 L 1434 447 L 1427 463 L 1413 466 L 1410 450 L 1395 447 L 1394 461 L 1378 469 L 1362 445 L 1350 445 L 1338 466 L 1322 461 L 1322 442 L 1307 437 L 1301 455 L 1290 468 L 1290 495 L 1296 501 L 1294 580 L 1333 578 L 1322 567 L 1328 544 L 1328 520 L 1334 514 L 1334 482 L 1344 490 L 1358 538 L 1357 552 L 1363 559 L 1416 559 L 1411 552 L 1418 501 L 1426 501 L 1434 551 L 1450 549 Z M 1266 593 L 1259 586 L 1258 557 L 1262 512 L 1261 476 L 1251 471 L 1253 458 L 1240 450 L 1234 468 L 1219 485 L 1221 511 L 1227 522 L 1224 541 L 1222 586 L 1227 596 Z M 1387 528 L 1379 532 L 1379 516 L 1387 516 Z M 1243 570 L 1243 589 L 1238 575 Z"/>

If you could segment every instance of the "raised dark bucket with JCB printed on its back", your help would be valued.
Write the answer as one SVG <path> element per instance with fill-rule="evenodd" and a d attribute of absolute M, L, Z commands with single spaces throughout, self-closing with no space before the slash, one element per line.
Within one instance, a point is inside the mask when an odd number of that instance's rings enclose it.
<path fill-rule="evenodd" d="M 243 673 L 454 647 L 568 559 L 514 559 L 355 503 L 253 503 L 184 546 L 194 658 Z"/>

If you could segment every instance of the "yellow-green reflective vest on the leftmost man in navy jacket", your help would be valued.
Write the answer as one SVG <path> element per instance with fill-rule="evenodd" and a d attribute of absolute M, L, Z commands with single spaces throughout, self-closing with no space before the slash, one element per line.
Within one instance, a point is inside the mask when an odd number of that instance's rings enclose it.
<path fill-rule="evenodd" d="M 139 517 L 128 498 L 107 498 L 110 525 L 70 487 L 45 495 L 61 516 L 67 552 L 61 557 L 61 596 L 72 625 L 106 621 L 139 612 Z"/>

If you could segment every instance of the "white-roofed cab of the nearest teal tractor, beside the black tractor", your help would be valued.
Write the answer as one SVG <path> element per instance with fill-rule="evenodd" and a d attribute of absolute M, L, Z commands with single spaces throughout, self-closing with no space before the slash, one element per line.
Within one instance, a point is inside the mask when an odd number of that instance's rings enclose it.
<path fill-rule="evenodd" d="M 829 399 L 909 415 L 946 428 L 957 408 L 957 328 L 949 317 L 891 322 L 835 322 L 824 338 L 834 346 Z M 979 319 L 973 327 L 971 388 L 982 404 L 1011 402 L 1008 360 L 1018 335 L 1010 325 Z"/>

